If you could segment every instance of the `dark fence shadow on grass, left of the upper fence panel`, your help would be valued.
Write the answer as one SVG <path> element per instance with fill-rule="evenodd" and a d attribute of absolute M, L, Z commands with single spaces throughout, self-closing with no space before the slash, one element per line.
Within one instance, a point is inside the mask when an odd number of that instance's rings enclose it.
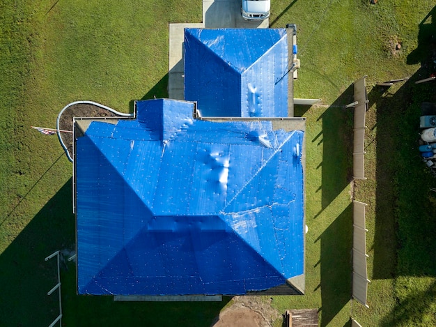
<path fill-rule="evenodd" d="M 322 182 L 318 189 L 322 192 L 321 211 L 352 180 L 352 109 L 345 109 L 352 101 L 351 85 L 320 115 L 322 132 L 311 140 L 322 144 Z"/>

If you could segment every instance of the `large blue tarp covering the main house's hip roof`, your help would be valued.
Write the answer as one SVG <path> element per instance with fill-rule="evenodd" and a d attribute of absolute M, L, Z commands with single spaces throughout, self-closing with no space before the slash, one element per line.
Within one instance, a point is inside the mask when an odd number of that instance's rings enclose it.
<path fill-rule="evenodd" d="M 137 102 L 76 140 L 79 294 L 246 294 L 304 273 L 303 132 Z"/>

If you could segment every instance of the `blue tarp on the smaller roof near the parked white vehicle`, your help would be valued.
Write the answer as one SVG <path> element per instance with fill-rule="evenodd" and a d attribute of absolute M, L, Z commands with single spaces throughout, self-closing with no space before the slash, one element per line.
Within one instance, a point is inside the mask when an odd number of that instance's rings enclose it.
<path fill-rule="evenodd" d="M 202 116 L 288 116 L 286 29 L 185 29 L 184 57 Z"/>

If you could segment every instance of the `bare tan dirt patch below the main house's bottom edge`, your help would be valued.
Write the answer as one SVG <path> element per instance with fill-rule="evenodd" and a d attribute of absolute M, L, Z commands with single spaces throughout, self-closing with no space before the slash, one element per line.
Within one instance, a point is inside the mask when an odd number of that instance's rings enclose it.
<path fill-rule="evenodd" d="M 232 304 L 219 314 L 213 327 L 270 327 L 281 314 L 261 296 L 235 296 Z"/>

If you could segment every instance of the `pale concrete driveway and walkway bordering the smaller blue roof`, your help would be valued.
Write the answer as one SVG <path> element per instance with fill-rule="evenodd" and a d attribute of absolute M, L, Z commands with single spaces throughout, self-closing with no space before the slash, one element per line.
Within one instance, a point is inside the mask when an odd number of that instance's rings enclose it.
<path fill-rule="evenodd" d="M 185 27 L 192 28 L 267 28 L 269 20 L 246 21 L 241 16 L 241 0 L 203 0 L 203 23 L 169 24 L 169 79 L 170 99 L 184 100 L 183 41 Z"/>

